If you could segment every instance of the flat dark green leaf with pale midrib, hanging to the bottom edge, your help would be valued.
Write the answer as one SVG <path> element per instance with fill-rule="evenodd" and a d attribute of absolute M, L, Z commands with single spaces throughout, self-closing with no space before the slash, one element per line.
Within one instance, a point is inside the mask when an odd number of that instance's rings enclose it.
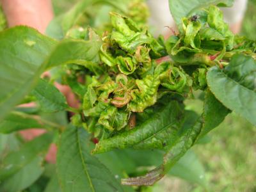
<path fill-rule="evenodd" d="M 123 191 L 109 170 L 89 154 L 87 139 L 84 129 L 75 127 L 61 135 L 57 173 L 62 191 Z"/>

